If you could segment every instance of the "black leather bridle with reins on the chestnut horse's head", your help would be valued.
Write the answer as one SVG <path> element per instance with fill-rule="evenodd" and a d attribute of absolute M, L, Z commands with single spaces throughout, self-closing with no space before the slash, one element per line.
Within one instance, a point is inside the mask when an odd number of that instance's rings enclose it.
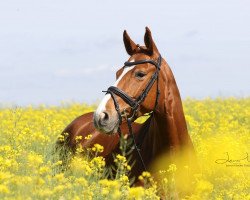
<path fill-rule="evenodd" d="M 124 117 L 125 115 L 125 119 L 127 120 L 127 124 L 128 124 L 128 128 L 129 128 L 129 134 L 132 135 L 133 138 L 133 142 L 134 142 L 134 147 L 138 153 L 138 156 L 140 157 L 141 163 L 143 165 L 144 170 L 146 171 L 146 166 L 145 163 L 143 162 L 141 153 L 140 153 L 140 149 L 137 147 L 136 145 L 136 141 L 135 141 L 135 136 L 133 134 L 133 130 L 132 130 L 132 122 L 135 120 L 136 118 L 136 114 L 138 112 L 139 106 L 141 105 L 141 103 L 145 100 L 145 98 L 147 97 L 150 89 L 152 88 L 153 84 L 156 81 L 157 84 L 157 91 L 156 91 L 156 99 L 155 99 L 155 106 L 154 109 L 149 113 L 150 115 L 154 113 L 157 104 L 158 104 L 158 99 L 159 99 L 159 95 L 160 95 L 160 90 L 159 90 L 159 71 L 161 69 L 161 55 L 159 55 L 157 62 L 155 62 L 154 60 L 149 60 L 149 59 L 145 59 L 145 60 L 138 60 L 135 62 L 125 62 L 124 63 L 124 68 L 125 67 L 131 67 L 134 65 L 139 65 L 139 64 L 144 64 L 144 63 L 149 63 L 152 64 L 156 67 L 155 72 L 153 73 L 153 75 L 151 76 L 149 82 L 147 83 L 145 89 L 142 91 L 142 93 L 136 98 L 132 98 L 131 96 L 129 96 L 128 94 L 126 94 L 124 91 L 122 91 L 121 89 L 119 89 L 118 87 L 115 86 L 110 86 L 108 88 L 107 91 L 103 91 L 106 92 L 106 94 L 110 94 L 113 102 L 114 102 L 114 106 L 115 106 L 115 110 L 118 113 L 118 117 L 119 117 L 119 127 L 118 127 L 118 133 L 121 135 L 121 129 L 120 129 L 120 125 L 122 123 L 122 117 Z M 119 96 L 124 102 L 126 102 L 132 111 L 132 114 L 130 117 L 126 116 L 126 113 L 122 113 L 118 104 L 118 101 L 116 99 L 116 96 Z"/>

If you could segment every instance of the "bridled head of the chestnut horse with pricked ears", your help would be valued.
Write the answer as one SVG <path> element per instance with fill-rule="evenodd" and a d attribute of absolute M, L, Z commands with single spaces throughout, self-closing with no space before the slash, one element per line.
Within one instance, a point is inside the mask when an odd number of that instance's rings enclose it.
<path fill-rule="evenodd" d="M 126 31 L 123 41 L 130 58 L 116 72 L 116 82 L 94 113 L 95 127 L 106 134 L 116 133 L 126 119 L 153 111 L 158 103 L 162 61 L 151 31 L 146 27 L 145 46 L 136 45 Z"/>

